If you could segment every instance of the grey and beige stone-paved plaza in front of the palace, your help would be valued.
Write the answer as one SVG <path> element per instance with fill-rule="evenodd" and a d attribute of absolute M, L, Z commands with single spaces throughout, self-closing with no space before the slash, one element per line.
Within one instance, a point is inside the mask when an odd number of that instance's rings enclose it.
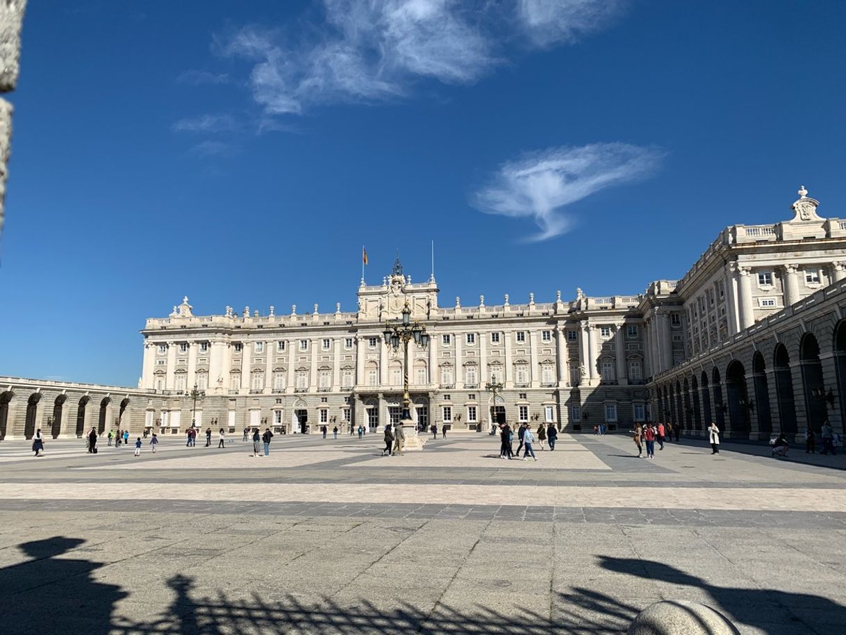
<path fill-rule="evenodd" d="M 0 444 L 10 633 L 618 633 L 660 599 L 743 633 L 846 632 L 846 457 L 700 441 L 634 456 L 562 435 L 538 461 L 455 433 L 277 436 L 152 455 Z M 516 445 L 516 444 L 515 444 Z"/>

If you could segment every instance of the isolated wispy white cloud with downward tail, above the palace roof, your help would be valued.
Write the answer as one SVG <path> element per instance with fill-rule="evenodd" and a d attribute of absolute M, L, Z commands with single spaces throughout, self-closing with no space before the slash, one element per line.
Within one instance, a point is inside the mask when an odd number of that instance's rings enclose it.
<path fill-rule="evenodd" d="M 557 147 L 503 163 L 491 182 L 471 199 L 482 212 L 532 218 L 541 232 L 527 240 L 547 240 L 567 232 L 564 211 L 596 191 L 653 174 L 664 152 L 626 143 Z"/>

